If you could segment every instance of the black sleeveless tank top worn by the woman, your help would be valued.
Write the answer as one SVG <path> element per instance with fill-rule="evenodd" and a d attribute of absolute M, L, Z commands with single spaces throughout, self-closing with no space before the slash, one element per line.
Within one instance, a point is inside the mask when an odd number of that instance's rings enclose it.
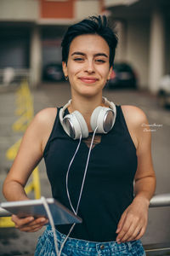
<path fill-rule="evenodd" d="M 65 114 L 68 110 L 65 111 Z M 73 140 L 59 122 L 59 108 L 54 127 L 44 149 L 44 160 L 52 195 L 71 209 L 65 176 L 79 140 Z M 82 142 L 69 173 L 69 192 L 73 207 L 82 186 L 88 158 L 88 146 Z M 111 131 L 101 135 L 101 142 L 92 149 L 78 216 L 71 236 L 88 241 L 115 241 L 116 228 L 122 212 L 133 201 L 133 178 L 137 169 L 137 155 L 127 129 L 121 106 L 116 105 L 116 122 Z M 67 235 L 71 225 L 57 225 Z"/>

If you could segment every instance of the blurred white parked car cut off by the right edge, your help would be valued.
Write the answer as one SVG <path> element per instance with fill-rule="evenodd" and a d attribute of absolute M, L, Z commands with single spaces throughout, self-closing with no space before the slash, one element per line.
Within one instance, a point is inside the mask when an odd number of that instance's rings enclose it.
<path fill-rule="evenodd" d="M 161 78 L 157 99 L 161 107 L 170 107 L 170 74 L 167 74 Z"/>

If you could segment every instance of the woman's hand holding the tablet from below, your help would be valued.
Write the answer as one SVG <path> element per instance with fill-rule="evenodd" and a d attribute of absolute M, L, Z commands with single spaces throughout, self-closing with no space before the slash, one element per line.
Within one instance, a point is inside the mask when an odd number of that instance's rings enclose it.
<path fill-rule="evenodd" d="M 12 215 L 11 220 L 14 222 L 15 228 L 25 232 L 36 232 L 37 230 L 41 230 L 44 224 L 48 223 L 48 219 L 44 217 L 34 218 L 30 216 L 19 218 L 14 214 Z"/>

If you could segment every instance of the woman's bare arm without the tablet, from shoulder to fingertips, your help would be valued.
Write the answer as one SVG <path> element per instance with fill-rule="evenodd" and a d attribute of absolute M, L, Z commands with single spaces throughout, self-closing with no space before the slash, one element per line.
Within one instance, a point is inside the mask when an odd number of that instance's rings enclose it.
<path fill-rule="evenodd" d="M 138 240 L 144 235 L 150 199 L 156 189 L 156 175 L 151 158 L 151 135 L 150 131 L 144 130 L 148 120 L 141 109 L 133 106 L 126 107 L 123 113 L 128 128 L 136 137 L 138 168 L 134 183 L 135 197 L 132 204 L 122 213 L 117 225 L 116 241 L 118 242 Z"/>

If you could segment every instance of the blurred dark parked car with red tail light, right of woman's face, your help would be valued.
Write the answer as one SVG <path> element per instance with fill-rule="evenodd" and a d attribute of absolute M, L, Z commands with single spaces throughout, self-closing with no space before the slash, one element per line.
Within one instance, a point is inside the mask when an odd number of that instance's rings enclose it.
<path fill-rule="evenodd" d="M 137 88 L 137 77 L 129 64 L 116 63 L 111 73 L 111 79 L 106 84 L 106 88 Z"/>

